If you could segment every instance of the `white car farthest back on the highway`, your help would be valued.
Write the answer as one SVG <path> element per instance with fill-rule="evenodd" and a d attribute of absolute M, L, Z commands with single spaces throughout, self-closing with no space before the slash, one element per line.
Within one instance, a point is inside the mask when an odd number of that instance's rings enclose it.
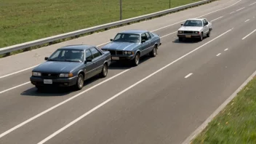
<path fill-rule="evenodd" d="M 188 19 L 181 25 L 183 26 L 177 31 L 179 41 L 183 41 L 183 38 L 197 38 L 202 41 L 205 36 L 209 37 L 212 31 L 212 23 L 206 18 Z"/>

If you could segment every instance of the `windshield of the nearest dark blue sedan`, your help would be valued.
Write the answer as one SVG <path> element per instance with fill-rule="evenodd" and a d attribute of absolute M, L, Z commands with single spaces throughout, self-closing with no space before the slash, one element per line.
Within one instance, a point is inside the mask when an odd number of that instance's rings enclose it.
<path fill-rule="evenodd" d="M 57 49 L 50 57 L 50 61 L 83 62 L 84 51 L 76 49 Z"/>

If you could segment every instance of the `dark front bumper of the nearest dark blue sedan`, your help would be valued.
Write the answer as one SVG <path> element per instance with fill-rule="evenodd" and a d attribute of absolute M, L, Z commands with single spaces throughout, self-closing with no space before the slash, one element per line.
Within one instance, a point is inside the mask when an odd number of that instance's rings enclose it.
<path fill-rule="evenodd" d="M 67 79 L 52 79 L 52 84 L 44 84 L 44 78 L 31 76 L 31 84 L 36 86 L 70 87 L 76 84 L 77 76 Z"/>

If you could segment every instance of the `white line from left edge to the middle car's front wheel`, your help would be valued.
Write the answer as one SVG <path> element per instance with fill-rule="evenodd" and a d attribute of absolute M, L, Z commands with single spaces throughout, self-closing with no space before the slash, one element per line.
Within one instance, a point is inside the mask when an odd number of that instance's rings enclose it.
<path fill-rule="evenodd" d="M 117 76 L 120 76 L 120 75 L 123 74 L 123 73 L 126 73 L 126 72 L 129 71 L 130 69 L 131 69 L 131 68 L 129 68 L 129 69 L 125 70 L 125 71 L 122 71 L 121 73 L 118 73 L 118 74 L 116 74 L 115 76 L 112 76 L 111 78 L 106 79 L 105 81 L 101 81 L 99 84 L 95 84 L 94 86 L 89 87 L 89 89 L 85 89 L 83 92 L 80 92 L 79 94 L 76 94 L 76 95 L 74 95 L 73 97 L 70 97 L 70 98 L 68 98 L 67 100 L 64 100 L 63 102 L 58 103 L 57 105 L 54 105 L 54 106 L 52 106 L 51 108 L 48 108 L 47 110 L 45 110 L 45 111 L 43 111 L 43 112 L 37 114 L 36 116 L 33 116 L 31 119 L 28 119 L 28 120 L 26 120 L 26 121 L 23 121 L 22 123 L 18 124 L 17 126 L 12 127 L 12 129 L 9 129 L 9 130 L 7 130 L 6 132 L 1 133 L 0 138 L 1 138 L 1 137 L 4 137 L 4 135 L 9 134 L 10 132 L 14 131 L 14 130 L 17 129 L 17 128 L 22 127 L 23 125 L 28 124 L 28 122 L 33 121 L 34 119 L 38 118 L 39 116 L 42 116 L 42 115 L 44 115 L 45 113 L 47 113 L 47 112 L 49 112 L 49 111 L 52 111 L 53 109 L 59 107 L 60 105 L 63 105 L 64 103 L 67 103 L 68 101 L 73 100 L 73 99 L 76 98 L 76 97 L 79 97 L 79 95 L 82 95 L 82 94 L 84 94 L 85 92 L 88 92 L 89 90 L 94 89 L 95 87 L 97 87 L 97 86 L 99 86 L 99 85 L 101 85 L 101 84 L 104 84 L 105 82 L 110 81 L 111 79 L 114 79 L 114 78 L 116 78 Z"/>

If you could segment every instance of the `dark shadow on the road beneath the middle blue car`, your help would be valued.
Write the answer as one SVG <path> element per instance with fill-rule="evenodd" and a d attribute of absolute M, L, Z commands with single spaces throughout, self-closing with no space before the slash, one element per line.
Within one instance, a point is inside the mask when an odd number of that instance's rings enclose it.
<path fill-rule="evenodd" d="M 140 57 L 140 63 L 139 65 L 141 65 L 142 63 L 145 63 L 147 60 L 149 60 L 151 57 L 149 55 L 145 55 L 143 57 Z M 132 65 L 132 61 L 130 60 L 121 60 L 121 61 L 111 61 L 111 65 L 109 66 L 108 69 L 110 70 L 127 70 L 129 68 L 135 67 L 134 65 Z"/>

